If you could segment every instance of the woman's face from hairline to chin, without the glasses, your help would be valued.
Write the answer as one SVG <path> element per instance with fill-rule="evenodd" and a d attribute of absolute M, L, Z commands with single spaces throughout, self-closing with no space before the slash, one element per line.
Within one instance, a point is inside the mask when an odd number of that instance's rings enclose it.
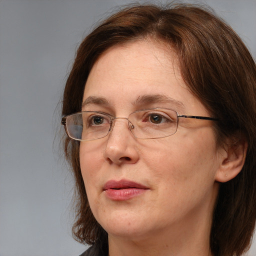
<path fill-rule="evenodd" d="M 152 107 L 209 116 L 182 80 L 175 56 L 143 40 L 114 46 L 93 65 L 83 111 L 116 117 Z M 80 142 L 80 166 L 90 208 L 111 237 L 209 231 L 221 164 L 212 121 L 179 118 L 175 134 L 132 135 L 116 119 L 103 138 Z"/>

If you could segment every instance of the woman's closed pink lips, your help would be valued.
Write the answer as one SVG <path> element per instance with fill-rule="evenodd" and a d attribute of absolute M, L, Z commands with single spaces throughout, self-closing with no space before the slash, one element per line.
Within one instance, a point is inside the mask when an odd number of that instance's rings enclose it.
<path fill-rule="evenodd" d="M 148 188 L 144 185 L 126 179 L 119 181 L 109 180 L 103 187 L 103 191 L 109 199 L 119 201 L 140 195 L 147 189 Z"/>

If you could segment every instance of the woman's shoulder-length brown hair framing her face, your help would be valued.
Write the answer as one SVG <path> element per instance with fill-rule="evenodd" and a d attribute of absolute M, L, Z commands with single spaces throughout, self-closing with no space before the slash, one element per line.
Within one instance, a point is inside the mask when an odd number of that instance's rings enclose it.
<path fill-rule="evenodd" d="M 256 67 L 236 33 L 212 11 L 176 4 L 126 7 L 104 20 L 81 42 L 67 78 L 62 114 L 81 110 L 84 85 L 95 60 L 109 47 L 153 38 L 175 51 L 181 75 L 216 122 L 216 138 L 242 134 L 248 142 L 240 173 L 221 183 L 213 212 L 210 248 L 213 255 L 241 255 L 250 245 L 256 217 Z M 92 215 L 79 165 L 79 142 L 65 138 L 76 188 L 73 234 L 80 242 L 107 241 Z"/>

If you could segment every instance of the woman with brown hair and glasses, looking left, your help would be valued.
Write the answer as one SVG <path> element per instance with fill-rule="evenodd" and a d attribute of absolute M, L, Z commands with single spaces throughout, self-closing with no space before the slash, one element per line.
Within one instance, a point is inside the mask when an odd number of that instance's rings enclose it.
<path fill-rule="evenodd" d="M 125 8 L 80 44 L 62 108 L 82 255 L 242 255 L 256 213 L 255 63 L 193 5 Z"/>

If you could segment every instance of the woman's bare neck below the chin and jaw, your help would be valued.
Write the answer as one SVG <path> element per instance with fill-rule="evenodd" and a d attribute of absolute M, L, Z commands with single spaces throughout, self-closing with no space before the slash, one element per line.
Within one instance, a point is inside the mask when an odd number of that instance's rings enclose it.
<path fill-rule="evenodd" d="M 172 226 L 172 232 L 159 230 L 143 237 L 108 235 L 109 256 L 210 256 L 210 227 L 203 230 L 198 224 L 186 229 Z"/>

